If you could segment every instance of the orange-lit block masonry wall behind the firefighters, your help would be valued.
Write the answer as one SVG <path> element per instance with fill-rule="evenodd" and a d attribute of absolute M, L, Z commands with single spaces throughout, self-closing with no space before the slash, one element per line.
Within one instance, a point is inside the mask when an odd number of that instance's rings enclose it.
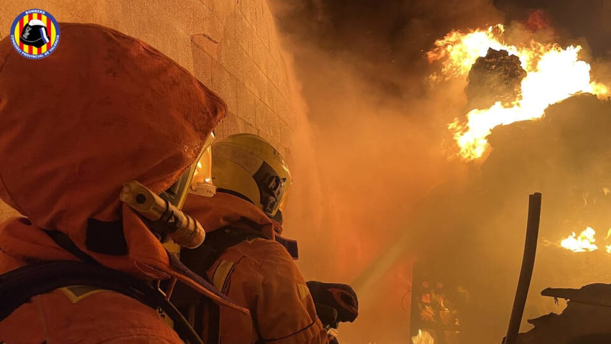
<path fill-rule="evenodd" d="M 144 40 L 227 102 L 229 114 L 214 131 L 219 138 L 256 133 L 291 160 L 295 111 L 266 0 L 0 0 L 0 38 L 32 8 L 60 23 L 101 24 Z M 0 221 L 13 214 L 0 203 Z"/>

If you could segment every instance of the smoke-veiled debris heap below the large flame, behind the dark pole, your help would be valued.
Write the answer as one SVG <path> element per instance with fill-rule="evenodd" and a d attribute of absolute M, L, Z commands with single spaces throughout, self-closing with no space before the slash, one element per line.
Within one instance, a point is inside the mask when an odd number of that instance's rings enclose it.
<path fill-rule="evenodd" d="M 523 94 L 524 91 L 522 89 Z M 521 241 L 521 237 L 516 239 L 518 236 L 510 227 L 520 225 L 521 221 L 515 219 L 522 213 L 516 210 L 516 205 L 521 204 L 524 193 L 540 190 L 549 195 L 544 205 L 541 236 L 554 238 L 554 245 L 540 247 L 542 254 L 537 258 L 531 290 L 609 280 L 606 266 L 611 257 L 602 249 L 609 242 L 605 239 L 606 231 L 600 231 L 609 228 L 611 209 L 611 194 L 604 191 L 611 180 L 609 132 L 611 102 L 601 101 L 591 94 L 571 96 L 545 108 L 544 116 L 537 121 L 517 121 L 495 127 L 485 136 L 492 148 L 490 154 L 474 165 L 477 171 L 469 175 L 465 190 L 452 190 L 444 185 L 439 188 L 439 195 L 431 196 L 434 197 L 430 200 L 434 204 L 431 208 L 443 208 L 446 214 L 452 215 L 442 220 L 431 215 L 426 219 L 427 228 L 459 228 L 451 239 L 447 239 L 448 245 L 458 241 L 463 247 L 486 244 L 477 254 L 463 252 L 460 248 L 452 253 L 444 252 L 452 256 L 452 262 L 447 264 L 455 264 L 453 269 L 463 273 L 457 283 L 464 283 L 477 296 L 461 317 L 461 332 L 466 343 L 482 343 L 478 338 L 490 338 L 495 333 L 496 338 L 500 338 L 499 333 L 506 329 L 498 324 L 506 326 L 508 305 L 497 302 L 499 295 L 507 297 L 513 292 L 507 285 L 514 282 L 509 282 L 507 276 L 515 276 L 515 266 L 519 263 L 514 253 L 503 249 L 511 247 L 513 251 Z M 587 201 L 584 195 L 588 195 Z M 437 214 L 423 211 L 428 212 Z M 560 247 L 561 239 L 566 239 L 572 230 L 576 231 L 574 237 L 578 241 L 580 231 L 587 226 L 599 230 L 598 235 L 591 236 L 590 231 L 586 231 L 582 236 L 596 239 L 589 241 L 599 247 L 596 252 L 576 254 Z M 489 243 L 499 242 L 503 245 L 488 247 Z M 444 246 L 446 250 L 448 245 Z M 507 258 L 509 255 L 511 258 Z M 482 263 L 486 260 L 494 263 Z M 514 262 L 513 267 L 509 267 L 510 261 Z M 490 290 L 491 285 L 495 286 L 494 292 Z M 549 313 L 550 304 L 529 299 L 525 318 Z M 491 324 L 489 328 L 481 329 L 478 321 L 483 318 Z M 496 328 L 492 328 L 494 326 Z"/>

